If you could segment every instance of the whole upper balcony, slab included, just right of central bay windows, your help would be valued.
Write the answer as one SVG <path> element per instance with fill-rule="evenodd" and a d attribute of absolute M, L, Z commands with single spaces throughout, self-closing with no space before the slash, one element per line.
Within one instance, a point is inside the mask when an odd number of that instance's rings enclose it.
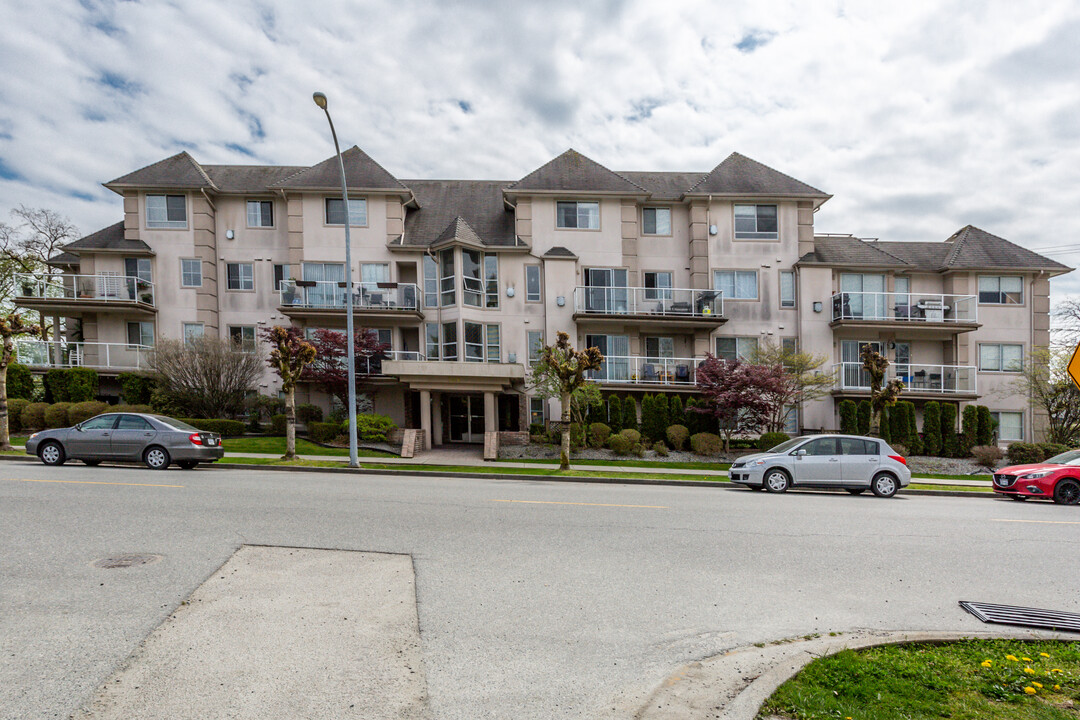
<path fill-rule="evenodd" d="M 727 322 L 723 293 L 679 287 L 577 287 L 573 320 L 707 328 Z"/>

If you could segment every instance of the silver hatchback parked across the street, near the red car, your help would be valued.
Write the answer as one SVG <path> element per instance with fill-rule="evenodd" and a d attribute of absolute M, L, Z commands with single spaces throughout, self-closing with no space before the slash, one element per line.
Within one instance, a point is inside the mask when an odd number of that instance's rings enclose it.
<path fill-rule="evenodd" d="M 796 437 L 741 458 L 728 475 L 732 483 L 769 492 L 836 488 L 852 494 L 870 490 L 879 498 L 891 498 L 912 481 L 903 456 L 879 437 L 859 435 Z"/>

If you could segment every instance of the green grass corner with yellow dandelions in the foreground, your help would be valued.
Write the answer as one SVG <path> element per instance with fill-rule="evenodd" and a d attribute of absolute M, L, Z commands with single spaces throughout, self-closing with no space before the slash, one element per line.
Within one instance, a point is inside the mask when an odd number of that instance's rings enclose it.
<path fill-rule="evenodd" d="M 845 650 L 781 685 L 759 717 L 1076 720 L 1080 642 L 963 640 Z"/>

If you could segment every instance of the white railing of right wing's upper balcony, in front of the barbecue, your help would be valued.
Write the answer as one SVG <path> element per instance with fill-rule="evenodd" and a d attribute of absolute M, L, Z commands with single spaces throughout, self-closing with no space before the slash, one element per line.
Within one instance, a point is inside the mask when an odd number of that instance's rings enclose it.
<path fill-rule="evenodd" d="M 975 323 L 978 302 L 974 295 L 837 293 L 833 296 L 833 320 Z"/>

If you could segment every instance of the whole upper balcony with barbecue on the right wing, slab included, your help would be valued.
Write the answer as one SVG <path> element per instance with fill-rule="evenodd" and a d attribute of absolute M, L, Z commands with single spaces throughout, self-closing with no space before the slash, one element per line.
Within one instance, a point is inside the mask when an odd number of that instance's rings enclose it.
<path fill-rule="evenodd" d="M 974 295 L 927 293 L 837 293 L 833 327 L 904 327 L 969 332 L 978 327 Z"/>

